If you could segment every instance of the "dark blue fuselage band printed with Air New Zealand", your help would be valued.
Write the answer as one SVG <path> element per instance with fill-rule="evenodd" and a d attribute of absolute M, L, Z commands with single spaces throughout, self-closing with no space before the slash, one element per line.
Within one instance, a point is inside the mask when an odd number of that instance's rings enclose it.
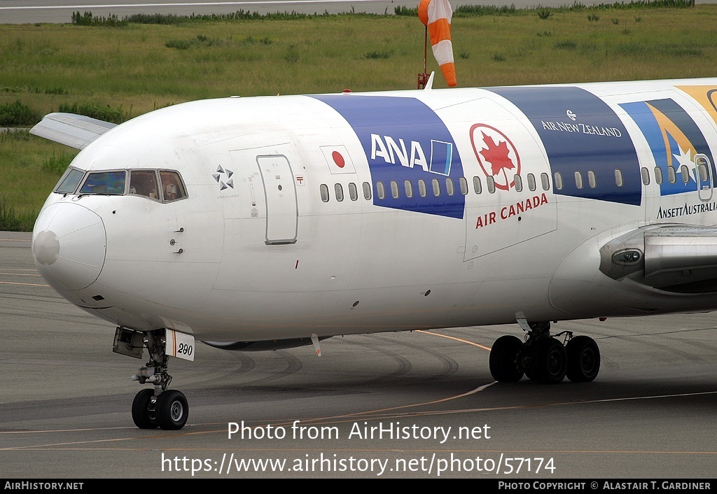
<path fill-rule="evenodd" d="M 530 120 L 553 173 L 563 177 L 556 194 L 639 206 L 642 200 L 640 161 L 630 135 L 604 101 L 579 87 L 490 87 L 516 105 Z M 623 185 L 615 183 L 615 169 Z M 582 174 L 578 189 L 575 172 Z M 588 184 L 588 171 L 597 186 Z"/>

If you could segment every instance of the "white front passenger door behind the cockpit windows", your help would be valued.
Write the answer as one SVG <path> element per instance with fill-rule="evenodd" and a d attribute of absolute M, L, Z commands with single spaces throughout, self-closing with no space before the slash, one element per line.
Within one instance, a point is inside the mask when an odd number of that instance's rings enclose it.
<path fill-rule="evenodd" d="M 257 156 L 267 205 L 266 243 L 296 242 L 298 206 L 291 166 L 286 156 Z"/>

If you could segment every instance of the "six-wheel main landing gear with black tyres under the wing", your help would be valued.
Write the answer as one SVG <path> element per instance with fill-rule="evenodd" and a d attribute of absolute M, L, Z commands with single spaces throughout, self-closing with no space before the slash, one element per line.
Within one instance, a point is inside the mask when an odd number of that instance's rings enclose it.
<path fill-rule="evenodd" d="M 600 370 L 600 350 L 589 336 L 563 331 L 550 336 L 550 323 L 527 323 L 518 319 L 527 331 L 523 343 L 515 336 L 501 336 L 490 350 L 490 374 L 500 382 L 520 381 L 523 374 L 533 381 L 557 384 L 565 376 L 573 382 L 588 382 Z M 565 336 L 566 344 L 558 338 Z"/>

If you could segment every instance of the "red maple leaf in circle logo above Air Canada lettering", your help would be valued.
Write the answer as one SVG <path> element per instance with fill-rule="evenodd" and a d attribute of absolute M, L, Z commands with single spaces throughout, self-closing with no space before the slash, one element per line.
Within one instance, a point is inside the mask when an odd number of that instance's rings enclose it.
<path fill-rule="evenodd" d="M 485 176 L 492 176 L 498 189 L 507 191 L 516 185 L 513 178 L 521 173 L 521 158 L 511 140 L 497 128 L 476 123 L 470 128 L 470 143 Z"/>

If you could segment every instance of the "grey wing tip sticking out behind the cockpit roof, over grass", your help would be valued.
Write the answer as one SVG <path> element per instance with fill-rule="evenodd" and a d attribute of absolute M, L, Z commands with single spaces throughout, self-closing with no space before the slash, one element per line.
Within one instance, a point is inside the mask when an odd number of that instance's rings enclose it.
<path fill-rule="evenodd" d="M 85 115 L 49 113 L 30 129 L 30 133 L 71 148 L 82 149 L 116 126 L 116 123 L 105 122 Z"/>

